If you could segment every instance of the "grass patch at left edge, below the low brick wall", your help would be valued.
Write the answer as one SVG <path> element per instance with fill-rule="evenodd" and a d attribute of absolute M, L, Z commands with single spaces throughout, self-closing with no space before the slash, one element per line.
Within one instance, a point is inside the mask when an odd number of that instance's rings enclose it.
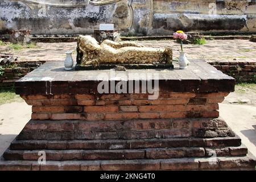
<path fill-rule="evenodd" d="M 0 105 L 10 102 L 21 102 L 22 98 L 15 94 L 13 87 L 11 88 L 0 88 Z"/>

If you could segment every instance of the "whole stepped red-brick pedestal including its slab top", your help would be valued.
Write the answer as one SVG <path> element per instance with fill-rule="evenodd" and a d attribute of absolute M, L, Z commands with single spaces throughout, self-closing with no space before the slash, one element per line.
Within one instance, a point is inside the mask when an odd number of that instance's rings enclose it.
<path fill-rule="evenodd" d="M 104 80 L 117 85 L 133 72 Z M 241 139 L 219 118 L 218 103 L 234 90 L 232 77 L 201 61 L 187 70 L 139 72 L 158 73 L 156 99 L 150 93 L 100 94 L 98 75 L 109 71 L 67 72 L 61 62 L 20 79 L 16 93 L 32 105 L 32 119 L 0 169 L 255 169 Z M 46 164 L 38 163 L 42 151 Z"/>

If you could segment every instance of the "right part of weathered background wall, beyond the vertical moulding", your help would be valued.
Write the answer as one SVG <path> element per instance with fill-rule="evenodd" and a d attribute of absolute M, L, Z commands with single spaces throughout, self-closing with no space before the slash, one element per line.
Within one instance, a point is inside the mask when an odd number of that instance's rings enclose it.
<path fill-rule="evenodd" d="M 172 3 L 170 3 L 172 2 Z M 152 34 L 185 31 L 256 31 L 255 1 L 154 1 Z"/>

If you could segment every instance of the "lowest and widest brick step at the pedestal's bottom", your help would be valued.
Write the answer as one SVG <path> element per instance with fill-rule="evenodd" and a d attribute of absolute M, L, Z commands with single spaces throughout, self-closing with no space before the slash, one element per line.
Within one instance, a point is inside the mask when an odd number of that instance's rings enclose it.
<path fill-rule="evenodd" d="M 182 159 L 141 160 L 88 160 L 0 161 L 0 171 L 152 171 L 152 170 L 251 170 L 255 171 L 256 159 L 251 156 Z"/>

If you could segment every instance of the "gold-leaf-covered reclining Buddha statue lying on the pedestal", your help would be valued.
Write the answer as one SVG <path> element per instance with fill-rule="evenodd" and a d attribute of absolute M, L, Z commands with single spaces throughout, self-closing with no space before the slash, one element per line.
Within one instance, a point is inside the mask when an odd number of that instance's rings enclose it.
<path fill-rule="evenodd" d="M 80 35 L 77 42 L 77 64 L 80 66 L 171 63 L 171 48 L 150 48 L 135 42 L 113 42 L 111 40 L 104 40 L 99 44 L 89 35 Z"/>

